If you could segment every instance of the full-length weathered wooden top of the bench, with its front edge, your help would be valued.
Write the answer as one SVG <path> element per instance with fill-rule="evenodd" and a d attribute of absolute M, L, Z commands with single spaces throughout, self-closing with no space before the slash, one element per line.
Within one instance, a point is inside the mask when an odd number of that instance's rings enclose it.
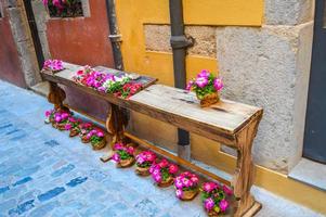
<path fill-rule="evenodd" d="M 69 68 L 74 68 L 74 72 Z M 262 113 L 261 108 L 226 100 L 200 108 L 194 94 L 161 85 L 149 86 L 130 100 L 123 100 L 76 84 L 71 80 L 75 69 L 78 66 L 69 65 L 55 75 L 43 72 L 42 76 L 231 146 L 236 145 L 235 133 Z"/>

